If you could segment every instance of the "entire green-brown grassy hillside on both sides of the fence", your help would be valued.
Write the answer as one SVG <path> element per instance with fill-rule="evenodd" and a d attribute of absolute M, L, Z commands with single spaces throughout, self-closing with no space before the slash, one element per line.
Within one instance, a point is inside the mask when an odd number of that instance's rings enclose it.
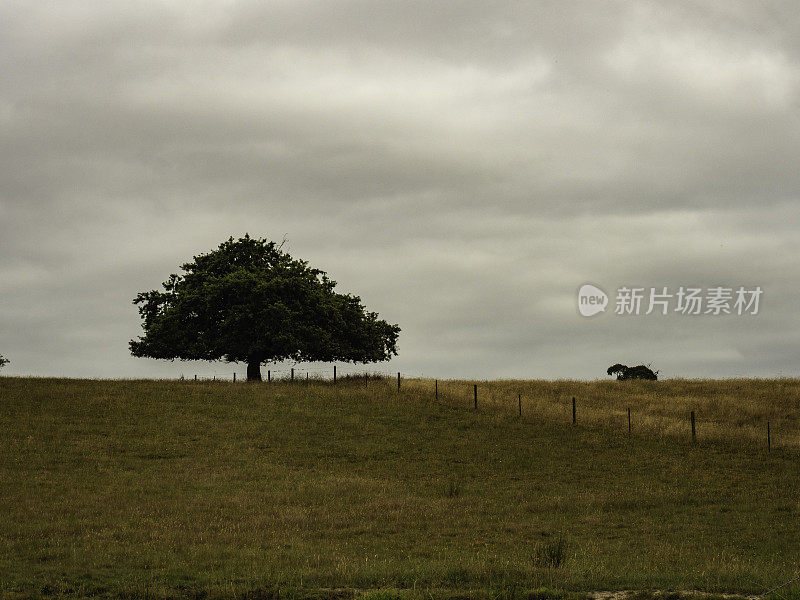
<path fill-rule="evenodd" d="M 800 381 L 478 383 L 476 412 L 472 382 L 437 403 L 432 380 L 0 377 L 0 596 L 758 594 L 797 574 Z"/>

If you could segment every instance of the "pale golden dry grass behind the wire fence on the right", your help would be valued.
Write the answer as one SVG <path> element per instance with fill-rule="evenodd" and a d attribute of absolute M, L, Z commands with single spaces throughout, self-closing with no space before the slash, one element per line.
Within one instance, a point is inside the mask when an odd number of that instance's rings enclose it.
<path fill-rule="evenodd" d="M 478 384 L 480 410 L 518 413 L 526 419 L 572 422 L 576 398 L 578 424 L 636 435 L 687 439 L 695 412 L 698 439 L 766 446 L 767 421 L 773 448 L 800 447 L 800 380 L 670 379 L 665 381 L 440 381 L 439 398 L 470 408 Z M 406 389 L 433 397 L 432 380 L 412 380 Z"/>

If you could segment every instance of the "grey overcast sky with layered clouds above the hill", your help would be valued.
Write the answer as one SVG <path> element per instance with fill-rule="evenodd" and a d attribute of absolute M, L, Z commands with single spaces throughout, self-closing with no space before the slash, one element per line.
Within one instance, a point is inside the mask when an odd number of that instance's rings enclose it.
<path fill-rule="evenodd" d="M 378 370 L 800 376 L 798 14 L 4 0 L 3 373 L 231 373 L 131 357 L 131 301 L 247 232 L 400 325 Z M 591 318 L 587 282 L 611 296 Z M 763 294 L 621 316 L 622 286 Z"/>

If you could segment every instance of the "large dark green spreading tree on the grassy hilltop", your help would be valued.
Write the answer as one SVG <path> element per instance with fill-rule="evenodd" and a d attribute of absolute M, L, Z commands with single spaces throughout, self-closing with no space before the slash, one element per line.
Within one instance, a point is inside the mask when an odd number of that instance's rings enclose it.
<path fill-rule="evenodd" d="M 164 291 L 134 299 L 144 320 L 134 356 L 246 362 L 247 380 L 261 381 L 264 362 L 366 364 L 397 354 L 397 325 L 275 242 L 231 237 L 181 269 Z"/>

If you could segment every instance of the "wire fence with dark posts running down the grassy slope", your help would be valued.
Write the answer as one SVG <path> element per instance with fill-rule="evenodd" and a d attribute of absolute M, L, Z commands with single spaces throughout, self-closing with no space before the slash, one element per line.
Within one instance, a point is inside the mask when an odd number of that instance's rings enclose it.
<path fill-rule="evenodd" d="M 212 373 L 181 376 L 182 380 L 246 382 L 246 373 L 215 370 Z M 642 403 L 635 397 L 618 398 L 613 403 L 606 399 L 582 395 L 587 390 L 553 389 L 529 390 L 509 381 L 487 382 L 468 380 L 439 380 L 426 378 L 423 374 L 389 369 L 370 370 L 359 365 L 340 365 L 329 367 L 283 367 L 262 369 L 262 382 L 276 383 L 325 383 L 355 382 L 370 386 L 383 382 L 396 390 L 412 394 L 413 397 L 427 398 L 454 408 L 469 410 L 489 410 L 513 414 L 519 418 L 540 418 L 553 422 L 571 423 L 572 426 L 588 425 L 609 430 L 622 431 L 627 435 L 656 435 L 659 438 L 685 438 L 693 444 L 701 441 L 727 441 L 736 443 L 755 443 L 768 451 L 800 446 L 800 430 L 792 415 L 783 411 L 753 415 L 747 407 L 739 407 L 738 412 L 716 414 L 720 409 L 713 401 L 706 402 L 702 397 L 678 398 L 676 408 L 670 413 L 663 409 Z M 554 382 L 558 385 L 558 382 Z M 570 393 L 571 392 L 571 393 Z M 590 392 L 591 394 L 591 392 Z M 409 397 L 412 397 L 409 396 Z M 776 433 L 780 439 L 776 439 Z"/>

